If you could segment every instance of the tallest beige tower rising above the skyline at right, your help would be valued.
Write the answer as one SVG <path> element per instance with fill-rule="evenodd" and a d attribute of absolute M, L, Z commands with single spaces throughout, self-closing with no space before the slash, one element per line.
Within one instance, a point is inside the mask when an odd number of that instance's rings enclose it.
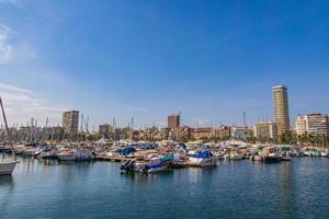
<path fill-rule="evenodd" d="M 279 135 L 291 129 L 288 94 L 285 85 L 275 85 L 273 90 L 274 122 L 279 125 Z"/>

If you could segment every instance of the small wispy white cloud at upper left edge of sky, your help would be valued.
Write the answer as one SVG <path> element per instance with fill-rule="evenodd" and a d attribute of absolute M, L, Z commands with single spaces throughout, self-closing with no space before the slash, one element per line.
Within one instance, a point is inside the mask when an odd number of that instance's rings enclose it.
<path fill-rule="evenodd" d="M 10 62 L 13 59 L 13 48 L 12 45 L 8 43 L 8 36 L 11 30 L 0 23 L 0 65 Z"/>

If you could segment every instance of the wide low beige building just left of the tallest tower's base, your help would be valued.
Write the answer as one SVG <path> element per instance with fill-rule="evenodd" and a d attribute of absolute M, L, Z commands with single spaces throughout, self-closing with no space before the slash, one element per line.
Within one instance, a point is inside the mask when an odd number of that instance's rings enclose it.
<path fill-rule="evenodd" d="M 263 122 L 257 123 L 253 126 L 254 137 L 259 140 L 276 140 L 280 136 L 280 132 L 281 130 L 277 123 Z"/>

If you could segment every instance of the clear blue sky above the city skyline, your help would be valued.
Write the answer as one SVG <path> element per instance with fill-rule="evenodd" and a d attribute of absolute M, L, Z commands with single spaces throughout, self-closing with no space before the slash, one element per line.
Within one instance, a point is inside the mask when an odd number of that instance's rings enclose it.
<path fill-rule="evenodd" d="M 192 126 L 329 113 L 329 2 L 0 0 L 0 92 L 12 123 L 80 110 L 92 124 Z"/>

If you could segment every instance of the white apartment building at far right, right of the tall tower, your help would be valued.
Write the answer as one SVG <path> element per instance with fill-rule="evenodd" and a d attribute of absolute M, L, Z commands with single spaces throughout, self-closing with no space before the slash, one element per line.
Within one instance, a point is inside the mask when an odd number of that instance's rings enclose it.
<path fill-rule="evenodd" d="M 298 136 L 306 134 L 313 136 L 329 135 L 329 117 L 319 113 L 298 116 L 295 131 Z"/>

